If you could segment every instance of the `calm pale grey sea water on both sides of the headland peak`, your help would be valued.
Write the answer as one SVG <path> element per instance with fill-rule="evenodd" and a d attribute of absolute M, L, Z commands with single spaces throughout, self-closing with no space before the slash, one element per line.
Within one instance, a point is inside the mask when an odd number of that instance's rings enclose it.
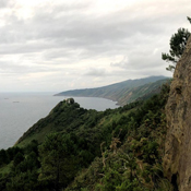
<path fill-rule="evenodd" d="M 52 95 L 53 93 L 0 93 L 0 150 L 14 145 L 28 128 L 65 98 Z M 115 102 L 103 98 L 74 99 L 86 109 L 105 110 L 118 107 Z"/>

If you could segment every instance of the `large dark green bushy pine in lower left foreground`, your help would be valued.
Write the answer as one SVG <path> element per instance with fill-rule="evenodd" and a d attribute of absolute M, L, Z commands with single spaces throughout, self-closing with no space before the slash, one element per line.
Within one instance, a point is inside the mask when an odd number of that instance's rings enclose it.
<path fill-rule="evenodd" d="M 39 181 L 48 183 L 52 190 L 59 191 L 64 188 L 76 171 L 74 158 L 70 156 L 70 143 L 67 135 L 51 133 L 39 146 L 40 175 Z"/>

